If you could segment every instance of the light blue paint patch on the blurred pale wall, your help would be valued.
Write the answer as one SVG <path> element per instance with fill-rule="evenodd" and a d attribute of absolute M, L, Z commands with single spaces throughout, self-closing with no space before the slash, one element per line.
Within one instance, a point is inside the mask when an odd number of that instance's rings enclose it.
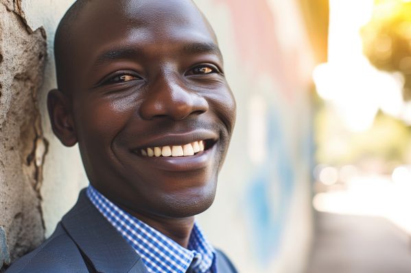
<path fill-rule="evenodd" d="M 247 214 L 256 258 L 264 265 L 277 255 L 294 190 L 294 162 L 286 150 L 277 114 L 268 112 L 268 160 L 255 170 L 247 191 Z M 273 189 L 279 190 L 272 200 Z M 274 205 L 275 204 L 275 205 Z"/>

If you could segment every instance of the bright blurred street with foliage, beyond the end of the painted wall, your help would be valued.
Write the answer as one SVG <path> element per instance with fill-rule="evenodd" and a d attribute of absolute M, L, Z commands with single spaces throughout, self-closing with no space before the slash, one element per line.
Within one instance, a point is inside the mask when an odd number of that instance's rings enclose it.
<path fill-rule="evenodd" d="M 411 272 L 411 1 L 329 1 L 308 272 Z"/>

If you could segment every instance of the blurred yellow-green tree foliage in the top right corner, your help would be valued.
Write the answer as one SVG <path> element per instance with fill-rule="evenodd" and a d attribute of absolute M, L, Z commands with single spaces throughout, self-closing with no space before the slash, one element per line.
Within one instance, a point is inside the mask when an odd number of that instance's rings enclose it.
<path fill-rule="evenodd" d="M 404 77 L 403 97 L 411 99 L 411 1 L 376 0 L 361 31 L 364 54 L 381 70 Z"/>

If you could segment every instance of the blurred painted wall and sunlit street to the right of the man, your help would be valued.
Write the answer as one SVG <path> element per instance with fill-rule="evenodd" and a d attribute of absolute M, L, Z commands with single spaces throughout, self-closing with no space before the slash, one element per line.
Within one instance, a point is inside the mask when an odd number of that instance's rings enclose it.
<path fill-rule="evenodd" d="M 212 2 L 239 105 L 215 244 L 242 272 L 411 272 L 411 1 Z"/>

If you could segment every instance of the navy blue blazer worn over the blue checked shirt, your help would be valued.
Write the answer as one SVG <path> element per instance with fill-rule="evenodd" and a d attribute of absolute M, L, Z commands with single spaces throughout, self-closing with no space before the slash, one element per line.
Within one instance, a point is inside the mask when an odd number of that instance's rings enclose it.
<path fill-rule="evenodd" d="M 218 273 L 237 272 L 217 252 Z M 94 207 L 84 190 L 58 223 L 56 231 L 36 250 L 14 262 L 6 273 L 130 272 L 147 273 L 134 249 Z"/>

